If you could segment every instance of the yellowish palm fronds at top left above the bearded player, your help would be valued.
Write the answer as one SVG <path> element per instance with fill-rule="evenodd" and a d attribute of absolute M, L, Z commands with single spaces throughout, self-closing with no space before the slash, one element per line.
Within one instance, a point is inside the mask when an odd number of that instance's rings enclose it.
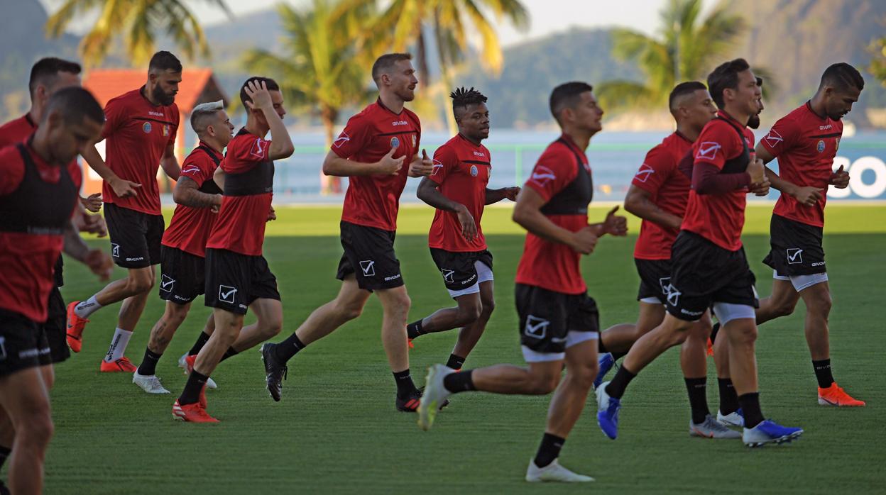
<path fill-rule="evenodd" d="M 232 15 L 224 0 L 205 2 Z M 86 66 L 100 64 L 118 35 L 123 35 L 128 58 L 134 65 L 151 58 L 159 31 L 165 31 L 187 58 L 209 53 L 198 19 L 182 0 L 65 0 L 46 21 L 46 32 L 58 37 L 72 19 L 96 11 L 98 19 L 80 43 Z"/>

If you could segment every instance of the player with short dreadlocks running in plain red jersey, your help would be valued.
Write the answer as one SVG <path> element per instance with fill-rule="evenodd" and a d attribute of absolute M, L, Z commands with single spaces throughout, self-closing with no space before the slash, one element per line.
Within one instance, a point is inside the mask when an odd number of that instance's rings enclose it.
<path fill-rule="evenodd" d="M 486 250 L 480 228 L 483 208 L 506 197 L 517 200 L 520 188 L 486 187 L 492 174 L 492 156 L 481 144 L 489 137 L 486 97 L 473 88 L 456 89 L 449 97 L 458 134 L 434 152 L 433 172 L 422 179 L 417 196 L 437 208 L 428 244 L 449 296 L 458 306 L 440 309 L 406 329 L 409 339 L 414 339 L 461 328 L 447 361 L 447 367 L 461 369 L 495 308 L 493 255 Z"/>

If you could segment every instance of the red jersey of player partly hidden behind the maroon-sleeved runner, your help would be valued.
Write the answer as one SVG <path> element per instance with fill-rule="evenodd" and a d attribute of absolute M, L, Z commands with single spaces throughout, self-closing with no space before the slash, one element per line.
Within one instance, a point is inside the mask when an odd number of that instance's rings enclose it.
<path fill-rule="evenodd" d="M 649 150 L 640 170 L 633 176 L 632 185 L 649 193 L 649 200 L 672 215 L 686 214 L 689 189 L 692 184 L 680 172 L 680 159 L 692 148 L 692 142 L 680 132 L 664 138 Z M 666 228 L 654 221 L 643 220 L 640 236 L 633 247 L 636 259 L 671 259 L 671 245 L 679 230 Z"/>

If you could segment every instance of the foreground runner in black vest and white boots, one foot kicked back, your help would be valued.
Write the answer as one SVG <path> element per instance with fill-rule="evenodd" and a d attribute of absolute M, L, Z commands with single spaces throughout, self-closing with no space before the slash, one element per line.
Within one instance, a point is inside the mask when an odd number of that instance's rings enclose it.
<path fill-rule="evenodd" d="M 418 410 L 419 427 L 429 429 L 439 406 L 454 393 L 555 392 L 544 437 L 526 470 L 529 482 L 594 481 L 557 461 L 597 373 L 599 316 L 587 295 L 579 259 L 594 251 L 601 236 L 624 236 L 627 231 L 626 219 L 615 215 L 618 207 L 604 222 L 587 223 L 594 183 L 585 150 L 602 129 L 603 114 L 592 90 L 585 82 L 567 82 L 551 93 L 551 113 L 563 135 L 541 154 L 514 207 L 514 221 L 528 231 L 517 267 L 516 301 L 520 344 L 529 367 L 497 365 L 456 373 L 434 365 Z M 560 383 L 563 365 L 566 375 Z"/>

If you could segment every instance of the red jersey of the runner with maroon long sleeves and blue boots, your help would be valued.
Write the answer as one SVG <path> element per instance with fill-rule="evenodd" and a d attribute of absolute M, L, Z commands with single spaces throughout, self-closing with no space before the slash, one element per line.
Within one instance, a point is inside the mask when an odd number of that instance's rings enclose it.
<path fill-rule="evenodd" d="M 727 112 L 717 112 L 717 118 L 708 122 L 702 134 L 692 145 L 694 163 L 707 163 L 720 169 L 721 174 L 744 172 L 748 163 L 734 164 L 754 149 L 754 133 Z M 683 230 L 699 236 L 728 251 L 742 247 L 744 206 L 748 190 L 739 189 L 726 194 L 697 194 L 689 190 Z"/>

